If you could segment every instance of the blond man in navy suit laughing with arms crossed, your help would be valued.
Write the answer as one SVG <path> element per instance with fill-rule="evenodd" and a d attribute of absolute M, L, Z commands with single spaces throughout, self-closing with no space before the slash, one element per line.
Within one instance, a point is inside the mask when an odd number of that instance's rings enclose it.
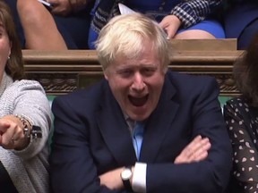
<path fill-rule="evenodd" d="M 106 79 L 52 105 L 54 192 L 224 191 L 232 155 L 218 84 L 168 71 L 170 46 L 140 13 L 101 29 Z"/>

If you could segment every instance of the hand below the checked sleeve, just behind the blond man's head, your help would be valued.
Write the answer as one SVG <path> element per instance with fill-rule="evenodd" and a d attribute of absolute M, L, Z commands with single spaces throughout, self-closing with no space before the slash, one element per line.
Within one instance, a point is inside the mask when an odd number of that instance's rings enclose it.
<path fill-rule="evenodd" d="M 180 25 L 181 21 L 175 15 L 167 15 L 159 23 L 159 26 L 167 32 L 168 39 L 175 37 Z"/>

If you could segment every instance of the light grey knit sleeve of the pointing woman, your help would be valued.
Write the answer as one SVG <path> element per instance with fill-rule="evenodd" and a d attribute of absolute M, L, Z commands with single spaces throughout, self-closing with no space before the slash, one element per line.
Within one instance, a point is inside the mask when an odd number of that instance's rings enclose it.
<path fill-rule="evenodd" d="M 14 86 L 15 85 L 15 86 Z M 47 101 L 44 89 L 38 81 L 21 80 L 9 88 L 7 96 L 19 93 L 13 101 L 13 114 L 26 117 L 32 125 L 40 127 L 42 138 L 30 139 L 28 147 L 22 150 L 13 150 L 13 153 L 19 155 L 22 159 L 33 158 L 46 147 L 48 135 L 51 127 L 51 110 Z"/>

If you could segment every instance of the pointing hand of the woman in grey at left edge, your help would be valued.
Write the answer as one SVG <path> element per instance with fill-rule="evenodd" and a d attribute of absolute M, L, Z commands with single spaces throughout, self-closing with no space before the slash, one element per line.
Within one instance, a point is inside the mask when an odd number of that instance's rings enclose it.
<path fill-rule="evenodd" d="M 23 133 L 22 122 L 13 115 L 0 119 L 0 146 L 5 149 L 23 149 L 30 143 Z"/>

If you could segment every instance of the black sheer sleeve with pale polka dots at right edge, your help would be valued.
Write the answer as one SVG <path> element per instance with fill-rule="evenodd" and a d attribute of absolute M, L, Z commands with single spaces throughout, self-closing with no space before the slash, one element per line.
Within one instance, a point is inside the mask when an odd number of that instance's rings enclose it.
<path fill-rule="evenodd" d="M 243 119 L 241 111 L 249 112 L 248 105 L 241 100 L 225 106 L 225 120 L 233 147 L 233 174 L 245 193 L 258 193 L 258 152 L 255 148 L 256 139 L 252 139 L 247 127 L 254 128 L 254 122 Z M 251 133 L 254 135 L 254 133 Z M 254 136 L 253 136 L 254 137 Z"/>

